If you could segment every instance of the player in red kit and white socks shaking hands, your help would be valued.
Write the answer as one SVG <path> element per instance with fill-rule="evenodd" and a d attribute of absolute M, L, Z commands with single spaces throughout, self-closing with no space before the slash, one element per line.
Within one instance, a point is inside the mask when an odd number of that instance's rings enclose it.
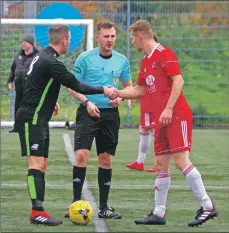
<path fill-rule="evenodd" d="M 132 44 L 145 53 L 140 65 L 137 85 L 128 90 L 116 90 L 109 98 L 136 99 L 151 93 L 151 108 L 155 123 L 154 152 L 156 157 L 155 207 L 151 213 L 135 220 L 136 224 L 165 225 L 166 200 L 170 187 L 170 161 L 183 173 L 188 186 L 199 200 L 200 209 L 188 226 L 198 226 L 218 216 L 206 193 L 201 175 L 189 160 L 192 146 L 192 112 L 182 93 L 184 80 L 174 52 L 156 42 L 152 25 L 138 20 L 130 26 Z M 177 200 L 180 202 L 180 200 Z"/>

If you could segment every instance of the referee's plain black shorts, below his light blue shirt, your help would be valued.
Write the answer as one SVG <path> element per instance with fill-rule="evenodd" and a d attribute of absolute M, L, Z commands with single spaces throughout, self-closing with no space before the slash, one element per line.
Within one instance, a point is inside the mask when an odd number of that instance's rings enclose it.
<path fill-rule="evenodd" d="M 120 117 L 118 108 L 103 108 L 100 118 L 91 117 L 86 107 L 80 105 L 76 114 L 75 150 L 91 150 L 95 138 L 97 155 L 115 155 L 118 145 Z"/>

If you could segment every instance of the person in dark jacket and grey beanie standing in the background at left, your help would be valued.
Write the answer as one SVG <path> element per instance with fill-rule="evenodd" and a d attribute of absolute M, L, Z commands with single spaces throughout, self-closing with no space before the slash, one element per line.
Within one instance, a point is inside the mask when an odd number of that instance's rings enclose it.
<path fill-rule="evenodd" d="M 11 65 L 8 79 L 9 90 L 12 90 L 13 86 L 15 86 L 16 91 L 14 116 L 16 116 L 16 112 L 23 98 L 26 73 L 38 52 L 38 49 L 34 46 L 34 37 L 32 35 L 25 35 L 21 41 L 21 49 Z"/>

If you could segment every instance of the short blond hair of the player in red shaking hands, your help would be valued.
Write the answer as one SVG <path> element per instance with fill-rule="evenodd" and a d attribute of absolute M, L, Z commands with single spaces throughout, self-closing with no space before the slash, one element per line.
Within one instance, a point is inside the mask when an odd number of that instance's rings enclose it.
<path fill-rule="evenodd" d="M 146 20 L 139 19 L 137 22 L 129 27 L 129 31 L 135 33 L 141 33 L 148 38 L 153 38 L 156 42 L 158 40 L 157 35 L 153 32 L 153 26 Z"/>

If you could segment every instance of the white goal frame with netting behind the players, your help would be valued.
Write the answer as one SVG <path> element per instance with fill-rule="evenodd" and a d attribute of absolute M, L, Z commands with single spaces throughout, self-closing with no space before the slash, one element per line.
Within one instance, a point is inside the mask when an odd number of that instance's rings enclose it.
<path fill-rule="evenodd" d="M 85 51 L 93 49 L 93 41 L 94 41 L 94 20 L 93 19 L 1 19 L 1 66 L 3 68 L 2 73 L 2 80 L 1 80 L 1 110 L 2 110 L 2 103 L 6 106 L 3 108 L 4 111 L 1 111 L 1 128 L 12 127 L 14 121 L 10 120 L 10 117 L 6 115 L 10 112 L 10 107 L 7 109 L 7 105 L 10 106 L 10 94 L 8 93 L 7 87 L 4 86 L 7 82 L 8 74 L 10 71 L 10 65 L 13 62 L 13 58 L 16 55 L 16 51 L 19 50 L 21 37 L 23 36 L 23 29 L 27 29 L 28 26 L 52 26 L 57 24 L 63 24 L 66 26 L 84 26 L 85 33 L 83 41 L 77 50 L 70 51 L 67 55 L 61 56 L 63 62 L 67 66 L 69 70 L 73 68 L 73 64 L 77 56 Z M 24 32 L 25 33 L 25 32 Z M 11 38 L 13 37 L 13 38 Z M 73 36 L 72 39 L 74 40 Z M 13 44 L 13 45 L 12 45 Z M 41 47 L 40 47 L 41 48 Z M 5 84 L 6 85 L 6 84 Z M 4 94 L 5 93 L 5 94 Z M 2 98 L 3 97 L 3 98 Z M 73 122 L 73 119 L 68 119 L 68 116 L 72 116 L 74 114 L 75 118 L 75 111 L 77 109 L 78 103 L 76 100 L 71 97 L 66 97 L 66 93 L 63 90 L 60 92 L 61 100 L 64 99 L 64 109 L 61 105 L 61 112 L 62 114 L 59 118 L 55 120 L 53 118 L 49 125 L 50 127 L 65 127 L 66 121 L 70 123 Z M 3 102 L 2 102 L 3 99 Z M 58 100 L 59 101 L 59 100 Z M 71 108 L 71 109 L 68 109 Z M 74 108 L 74 110 L 73 110 Z M 64 111 L 63 111 L 64 110 Z M 2 112 L 5 114 L 2 117 Z M 60 119 L 61 118 L 61 119 Z"/>

